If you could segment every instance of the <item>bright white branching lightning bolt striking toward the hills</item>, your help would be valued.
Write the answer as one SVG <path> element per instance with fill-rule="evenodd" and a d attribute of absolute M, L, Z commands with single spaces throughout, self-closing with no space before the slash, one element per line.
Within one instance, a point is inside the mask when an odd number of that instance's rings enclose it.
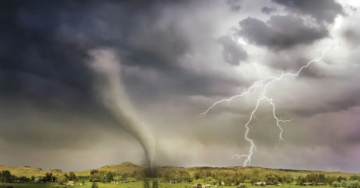
<path fill-rule="evenodd" d="M 278 144 L 275 145 L 275 148 L 279 145 L 279 143 L 280 143 L 281 141 L 286 142 L 286 141 L 283 139 L 283 137 L 282 137 L 283 129 L 282 129 L 281 126 L 279 125 L 279 122 L 291 121 L 291 120 L 293 120 L 294 118 L 292 118 L 292 119 L 290 119 L 290 120 L 282 120 L 281 117 L 278 118 L 278 117 L 275 115 L 275 104 L 273 103 L 273 99 L 272 99 L 272 98 L 269 98 L 269 97 L 267 97 L 267 96 L 265 95 L 266 87 L 269 86 L 270 84 L 274 83 L 275 81 L 278 81 L 278 80 L 282 79 L 284 76 L 292 76 L 293 78 L 295 78 L 297 75 L 299 75 L 299 73 L 301 72 L 302 69 L 307 68 L 307 67 L 309 67 L 309 68 L 311 69 L 311 63 L 313 63 L 313 62 L 315 62 L 315 61 L 320 61 L 321 59 L 323 59 L 323 57 L 325 56 L 325 54 L 328 54 L 328 51 L 330 50 L 330 46 L 331 46 L 331 43 L 330 43 L 330 45 L 329 45 L 327 48 L 325 48 L 325 49 L 322 50 L 322 56 L 321 56 L 319 59 L 314 59 L 314 60 L 309 61 L 305 66 L 301 67 L 296 74 L 291 74 L 291 73 L 286 73 L 286 74 L 285 74 L 284 71 L 279 70 L 278 72 L 281 72 L 281 75 L 280 75 L 279 77 L 265 77 L 264 79 L 262 79 L 262 80 L 260 80 L 260 81 L 256 81 L 251 87 L 248 88 L 248 90 L 247 90 L 246 92 L 242 93 L 241 95 L 235 95 L 235 96 L 230 97 L 230 98 L 228 98 L 228 99 L 222 99 L 222 100 L 220 100 L 220 101 L 215 102 L 215 103 L 214 103 L 210 108 L 208 108 L 207 110 L 200 110 L 200 111 L 202 112 L 200 115 L 204 115 L 204 116 L 205 116 L 205 115 L 208 113 L 208 111 L 209 111 L 210 109 L 212 109 L 213 107 L 215 107 L 217 104 L 219 104 L 219 103 L 221 103 L 221 102 L 225 102 L 225 101 L 230 102 L 231 100 L 233 100 L 233 98 L 242 97 L 242 96 L 246 95 L 247 93 L 255 93 L 258 88 L 264 86 L 264 87 L 263 87 L 264 90 L 262 91 L 262 95 L 256 96 L 256 98 L 257 98 L 256 107 L 255 107 L 255 109 L 252 111 L 252 113 L 251 113 L 251 115 L 250 115 L 250 118 L 249 118 L 249 121 L 248 121 L 247 124 L 245 125 L 245 127 L 246 127 L 245 139 L 246 139 L 248 142 L 250 142 L 250 145 L 251 145 L 251 147 L 250 147 L 250 149 L 249 149 L 249 154 L 248 154 L 248 155 L 234 155 L 233 157 L 230 157 L 229 160 L 230 160 L 230 159 L 235 159 L 235 160 L 238 160 L 238 159 L 239 159 L 239 160 L 241 160 L 242 157 L 247 157 L 247 158 L 246 158 L 246 161 L 244 162 L 244 166 L 246 166 L 247 163 L 248 163 L 249 165 L 251 165 L 251 164 L 250 164 L 251 156 L 252 156 L 252 154 L 253 154 L 253 150 L 256 152 L 256 147 L 255 147 L 253 141 L 247 137 L 247 135 L 248 135 L 248 133 L 249 133 L 249 130 L 250 130 L 249 127 L 248 127 L 248 125 L 250 124 L 251 120 L 253 120 L 253 122 L 254 122 L 253 125 L 255 125 L 255 120 L 257 120 L 257 122 L 258 122 L 258 119 L 257 119 L 256 116 L 255 116 L 255 112 L 256 112 L 256 110 L 258 109 L 258 106 L 259 106 L 261 100 L 266 100 L 267 102 L 270 103 L 270 105 L 273 106 L 273 115 L 274 115 L 274 118 L 276 119 L 276 125 L 278 125 L 278 127 L 279 127 L 279 129 L 280 129 L 279 142 L 278 142 Z M 312 50 L 312 51 L 310 52 L 310 54 L 312 54 L 312 53 L 315 52 L 315 51 L 320 51 L 320 49 Z M 255 98 L 255 99 L 256 99 L 256 98 Z M 252 127 L 251 127 L 251 128 L 252 128 Z"/>

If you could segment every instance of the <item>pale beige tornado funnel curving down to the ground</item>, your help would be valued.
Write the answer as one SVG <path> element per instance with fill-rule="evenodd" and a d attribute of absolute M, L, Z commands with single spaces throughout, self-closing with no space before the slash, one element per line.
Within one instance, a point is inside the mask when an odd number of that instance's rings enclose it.
<path fill-rule="evenodd" d="M 150 169 L 153 169 L 155 140 L 149 127 L 138 118 L 121 82 L 121 65 L 112 50 L 91 50 L 89 66 L 95 73 L 95 91 L 105 107 L 123 129 L 143 147 Z"/>

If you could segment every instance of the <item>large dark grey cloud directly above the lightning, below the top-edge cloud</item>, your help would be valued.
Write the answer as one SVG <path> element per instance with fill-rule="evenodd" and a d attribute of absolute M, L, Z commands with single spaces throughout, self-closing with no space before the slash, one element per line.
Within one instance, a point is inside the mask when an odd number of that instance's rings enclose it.
<path fill-rule="evenodd" d="M 239 22 L 238 35 L 258 46 L 282 50 L 296 45 L 310 45 L 329 36 L 326 27 L 309 26 L 305 20 L 292 15 L 274 15 L 266 23 L 248 17 Z"/>

